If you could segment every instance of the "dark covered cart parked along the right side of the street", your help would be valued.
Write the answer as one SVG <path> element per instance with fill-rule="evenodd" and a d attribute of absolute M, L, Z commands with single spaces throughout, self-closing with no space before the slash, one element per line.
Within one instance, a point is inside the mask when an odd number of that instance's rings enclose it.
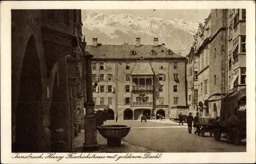
<path fill-rule="evenodd" d="M 233 91 L 222 99 L 220 118 L 195 125 L 198 135 L 209 132 L 217 141 L 223 137 L 239 145 L 246 138 L 246 88 Z"/>

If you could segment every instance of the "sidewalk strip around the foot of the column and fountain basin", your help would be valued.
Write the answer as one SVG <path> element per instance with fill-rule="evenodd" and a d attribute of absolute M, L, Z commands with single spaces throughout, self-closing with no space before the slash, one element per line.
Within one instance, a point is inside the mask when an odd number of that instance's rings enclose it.
<path fill-rule="evenodd" d="M 73 152 L 86 152 L 82 150 L 82 145 L 84 142 L 84 130 L 81 130 L 81 133 L 75 138 L 74 140 L 74 148 Z M 104 153 L 125 153 L 125 152 L 156 152 L 154 150 L 148 150 L 146 148 L 137 146 L 137 145 L 132 145 L 127 143 L 124 139 L 122 139 L 121 147 L 109 147 L 106 145 L 106 139 L 102 137 L 99 132 L 97 131 L 97 142 L 99 145 L 99 150 L 98 151 L 93 151 L 93 152 L 104 152 Z M 92 151 L 90 151 L 92 152 Z"/>

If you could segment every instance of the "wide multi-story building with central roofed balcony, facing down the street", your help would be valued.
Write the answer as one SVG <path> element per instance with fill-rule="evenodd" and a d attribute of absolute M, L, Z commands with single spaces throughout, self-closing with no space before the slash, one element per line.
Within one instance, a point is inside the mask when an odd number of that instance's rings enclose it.
<path fill-rule="evenodd" d="M 102 45 L 93 38 L 86 49 L 92 58 L 95 108 L 107 108 L 110 119 L 166 118 L 186 106 L 186 58 L 158 44 Z"/>

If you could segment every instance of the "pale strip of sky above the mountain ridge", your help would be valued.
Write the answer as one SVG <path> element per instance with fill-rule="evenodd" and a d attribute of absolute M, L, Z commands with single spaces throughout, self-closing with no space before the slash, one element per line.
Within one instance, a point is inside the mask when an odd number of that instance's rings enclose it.
<path fill-rule="evenodd" d="M 210 9 L 189 9 L 189 10 L 181 10 L 181 9 L 170 9 L 170 10 L 87 10 L 87 11 L 95 11 L 97 13 L 107 13 L 107 14 L 121 14 L 124 12 L 130 13 L 134 16 L 150 16 L 150 17 L 161 17 L 166 20 L 173 19 L 183 19 L 183 20 L 191 20 L 197 22 L 204 22 L 204 19 L 208 17 L 210 14 Z"/>

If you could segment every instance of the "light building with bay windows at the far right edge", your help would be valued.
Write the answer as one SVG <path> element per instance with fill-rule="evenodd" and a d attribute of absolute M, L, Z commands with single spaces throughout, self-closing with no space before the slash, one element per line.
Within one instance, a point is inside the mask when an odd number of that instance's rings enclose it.
<path fill-rule="evenodd" d="M 228 9 L 228 92 L 246 86 L 246 10 Z"/>

